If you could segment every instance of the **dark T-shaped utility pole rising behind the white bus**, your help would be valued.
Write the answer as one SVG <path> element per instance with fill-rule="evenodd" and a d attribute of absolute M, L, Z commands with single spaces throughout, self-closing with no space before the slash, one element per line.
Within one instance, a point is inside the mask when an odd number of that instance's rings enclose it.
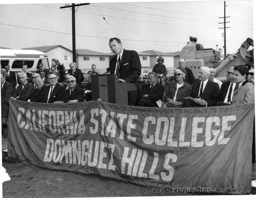
<path fill-rule="evenodd" d="M 76 10 L 78 9 L 79 6 L 86 6 L 89 5 L 89 3 L 86 4 L 72 4 L 70 5 L 66 5 L 66 6 L 62 6 L 60 7 L 60 9 L 62 8 L 72 8 L 72 52 L 73 52 L 73 62 L 76 62 L 76 20 L 75 20 L 75 13 Z M 75 7 L 77 7 L 77 9 L 75 10 Z"/>

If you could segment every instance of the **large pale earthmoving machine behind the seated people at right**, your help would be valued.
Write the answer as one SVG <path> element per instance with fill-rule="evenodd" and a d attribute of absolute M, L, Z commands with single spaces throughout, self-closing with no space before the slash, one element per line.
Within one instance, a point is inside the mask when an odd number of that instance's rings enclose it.
<path fill-rule="evenodd" d="M 216 78 L 221 81 L 226 80 L 226 72 L 231 66 L 240 64 L 247 65 L 248 68 L 254 68 L 253 64 L 253 40 L 247 38 L 234 54 L 228 54 L 223 59 L 221 52 L 223 49 L 216 50 L 212 48 L 205 49 L 202 44 L 197 43 L 196 37 L 190 36 L 190 42 L 183 47 L 180 52 L 180 58 L 185 60 L 185 67 L 191 69 L 196 79 L 200 67 L 213 67 L 216 68 Z"/>

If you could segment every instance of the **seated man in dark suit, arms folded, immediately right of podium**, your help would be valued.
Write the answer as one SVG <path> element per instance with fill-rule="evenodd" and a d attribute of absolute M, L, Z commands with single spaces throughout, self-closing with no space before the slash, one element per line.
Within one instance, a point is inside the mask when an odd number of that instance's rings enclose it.
<path fill-rule="evenodd" d="M 148 73 L 148 84 L 142 86 L 139 93 L 139 106 L 157 107 L 156 101 L 161 100 L 164 93 L 164 85 L 157 83 L 157 74 Z"/>

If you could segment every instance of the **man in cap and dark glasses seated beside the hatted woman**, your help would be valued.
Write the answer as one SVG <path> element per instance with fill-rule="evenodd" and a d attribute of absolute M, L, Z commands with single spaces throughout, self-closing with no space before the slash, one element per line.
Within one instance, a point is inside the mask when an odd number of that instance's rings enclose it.
<path fill-rule="evenodd" d="M 227 82 L 221 85 L 219 101 L 217 106 L 230 105 L 233 99 L 236 83 L 234 82 L 234 67 L 230 67 L 227 71 Z"/>

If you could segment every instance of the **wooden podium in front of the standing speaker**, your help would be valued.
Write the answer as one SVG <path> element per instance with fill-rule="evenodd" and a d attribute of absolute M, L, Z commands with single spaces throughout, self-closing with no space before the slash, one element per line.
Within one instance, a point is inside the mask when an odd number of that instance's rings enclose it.
<path fill-rule="evenodd" d="M 91 75 L 92 100 L 128 104 L 127 92 L 137 91 L 135 84 L 119 81 L 116 74 Z"/>

